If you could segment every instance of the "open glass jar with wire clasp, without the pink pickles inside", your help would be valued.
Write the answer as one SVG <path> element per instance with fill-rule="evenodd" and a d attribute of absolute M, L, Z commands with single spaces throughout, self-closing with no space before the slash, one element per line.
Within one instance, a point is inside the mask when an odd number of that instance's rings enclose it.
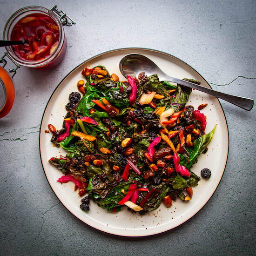
<path fill-rule="evenodd" d="M 71 20 L 66 13 L 59 11 L 56 8 L 56 6 L 54 6 L 50 10 L 40 6 L 28 6 L 28 7 L 23 7 L 19 9 L 18 11 L 13 13 L 13 15 L 7 20 L 7 23 L 3 31 L 3 40 L 10 40 L 13 28 L 17 24 L 17 22 L 21 20 L 23 17 L 29 14 L 34 14 L 34 13 L 50 16 L 59 27 L 59 32 L 60 32 L 59 41 L 54 52 L 43 60 L 27 61 L 27 60 L 20 59 L 14 53 L 13 48 L 11 46 L 7 46 L 5 47 L 7 51 L 6 55 L 11 59 L 11 61 L 21 66 L 35 68 L 35 69 L 50 69 L 57 66 L 63 60 L 64 55 L 66 53 L 67 40 L 65 37 L 63 25 L 71 26 L 72 24 L 75 24 L 74 21 Z M 69 19 L 71 22 L 67 19 Z"/>

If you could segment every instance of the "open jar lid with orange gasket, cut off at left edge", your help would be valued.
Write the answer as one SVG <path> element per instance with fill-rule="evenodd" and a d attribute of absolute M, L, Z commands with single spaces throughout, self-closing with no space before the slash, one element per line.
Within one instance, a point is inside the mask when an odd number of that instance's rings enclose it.
<path fill-rule="evenodd" d="M 13 79 L 3 67 L 0 67 L 0 118 L 10 112 L 14 95 Z"/>

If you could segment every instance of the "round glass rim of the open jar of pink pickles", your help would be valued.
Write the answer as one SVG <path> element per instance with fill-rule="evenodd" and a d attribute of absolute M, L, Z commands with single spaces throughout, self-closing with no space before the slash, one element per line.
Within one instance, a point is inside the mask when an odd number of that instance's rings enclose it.
<path fill-rule="evenodd" d="M 8 57 L 10 57 L 14 62 L 25 66 L 25 67 L 41 67 L 41 66 L 45 66 L 48 63 L 50 63 L 51 61 L 54 60 L 54 58 L 59 54 L 63 44 L 64 44 L 64 39 L 65 39 L 65 33 L 64 33 L 64 28 L 63 25 L 61 23 L 61 21 L 59 20 L 59 18 L 57 17 L 57 15 L 52 12 L 51 10 L 45 8 L 45 7 L 41 7 L 41 6 L 27 6 L 27 7 L 23 7 L 20 8 L 19 10 L 17 10 L 15 13 L 13 13 L 10 18 L 7 20 L 6 25 L 4 27 L 3 30 L 3 40 L 10 40 L 8 35 L 9 35 L 9 30 L 10 27 L 12 26 L 13 22 L 17 20 L 17 18 L 20 17 L 21 14 L 23 13 L 27 13 L 27 12 L 41 12 L 44 13 L 46 15 L 49 15 L 51 18 L 54 19 L 54 21 L 56 22 L 56 24 L 59 27 L 59 31 L 60 31 L 60 36 L 59 36 L 59 42 L 58 42 L 58 46 L 56 47 L 56 49 L 54 50 L 53 54 L 49 55 L 47 58 L 45 58 L 44 60 L 41 61 L 25 61 L 25 60 L 21 60 L 14 52 L 11 46 L 6 46 L 6 51 L 7 51 L 7 55 Z M 16 22 L 18 22 L 19 20 L 17 20 Z"/>

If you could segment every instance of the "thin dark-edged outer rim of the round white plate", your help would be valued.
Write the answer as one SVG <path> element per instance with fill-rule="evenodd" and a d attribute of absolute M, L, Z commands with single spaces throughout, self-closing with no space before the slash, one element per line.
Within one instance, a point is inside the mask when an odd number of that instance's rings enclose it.
<path fill-rule="evenodd" d="M 41 122 L 40 122 L 40 130 L 39 130 L 40 162 L 41 162 L 41 165 L 42 165 L 42 168 L 43 168 L 43 171 L 44 171 L 44 175 L 45 175 L 45 177 L 46 177 L 46 179 L 47 179 L 47 182 L 48 182 L 50 188 L 52 189 L 54 195 L 58 198 L 58 200 L 59 200 L 60 202 L 61 202 L 61 200 L 59 199 L 59 197 L 58 197 L 58 196 L 56 195 L 56 193 L 54 192 L 54 189 L 52 188 L 52 186 L 51 186 L 51 184 L 50 184 L 50 182 L 49 182 L 49 180 L 48 180 L 48 178 L 47 178 L 47 175 L 46 175 L 46 172 L 45 172 L 45 169 L 44 169 L 44 166 L 43 166 L 43 162 L 42 162 L 42 156 L 41 156 L 42 152 L 41 152 L 41 147 L 40 147 L 40 145 L 41 145 L 42 122 L 43 122 L 44 115 L 45 115 L 45 112 L 46 112 L 46 110 L 47 110 L 49 101 L 51 100 L 53 94 L 54 94 L 55 91 L 59 88 L 59 86 L 61 85 L 61 83 L 67 78 L 67 76 L 68 76 L 69 74 L 73 73 L 77 68 L 81 67 L 81 65 L 85 64 L 86 62 L 88 62 L 88 61 L 90 61 L 90 60 L 93 60 L 94 58 L 96 58 L 96 57 L 98 57 L 98 56 L 101 56 L 101 55 L 104 55 L 104 54 L 108 54 L 108 53 L 111 53 L 111 52 L 123 51 L 123 50 L 147 50 L 147 51 L 151 51 L 151 52 L 155 52 L 155 53 L 165 54 L 165 55 L 167 55 L 167 56 L 170 56 L 170 57 L 172 57 L 172 58 L 175 58 L 177 61 L 182 62 L 183 64 L 185 64 L 185 65 L 187 65 L 188 67 L 190 67 L 190 68 L 191 68 L 193 71 L 195 71 L 197 74 L 199 74 L 199 76 L 202 77 L 203 81 L 206 82 L 206 84 L 209 86 L 209 88 L 212 89 L 212 87 L 209 85 L 208 81 L 206 81 L 206 80 L 204 79 L 204 77 L 203 77 L 198 71 L 196 71 L 195 68 L 191 67 L 188 63 L 186 63 L 185 61 L 182 61 L 181 59 L 179 59 L 178 57 L 176 57 L 176 56 L 174 56 L 174 55 L 172 55 L 172 54 L 168 54 L 168 53 L 166 53 L 166 52 L 163 52 L 163 51 L 160 51 L 160 50 L 156 50 L 156 49 L 152 49 L 152 48 L 145 48 L 145 47 L 124 47 L 124 48 L 116 48 L 116 49 L 112 49 L 112 50 L 108 50 L 108 51 L 102 52 L 102 53 L 100 53 L 100 54 L 96 54 L 96 55 L 94 55 L 94 56 L 88 58 L 87 60 L 81 62 L 80 64 L 78 64 L 78 65 L 77 65 L 76 67 L 74 67 L 65 77 L 63 77 L 63 79 L 59 82 L 59 84 L 56 86 L 56 88 L 54 89 L 54 91 L 53 91 L 52 94 L 50 95 L 50 97 L 49 97 L 49 99 L 48 99 L 48 101 L 47 101 L 46 107 L 45 107 L 45 109 L 44 109 L 44 112 L 43 112 L 43 115 L 42 115 L 42 118 L 41 118 Z M 166 232 L 166 231 L 168 231 L 168 230 L 175 229 L 176 227 L 182 225 L 184 222 L 186 222 L 186 221 L 188 221 L 189 219 L 191 219 L 191 218 L 192 218 L 193 216 L 195 216 L 200 210 L 202 210 L 202 209 L 204 208 L 204 206 L 209 202 L 209 200 L 211 199 L 211 197 L 212 197 L 212 196 L 214 195 L 214 193 L 216 192 L 216 189 L 218 188 L 219 184 L 221 183 L 222 177 L 223 177 L 224 172 L 225 172 L 225 169 L 226 169 L 226 167 L 227 167 L 228 158 L 229 158 L 229 127 L 228 127 L 228 122 L 227 122 L 227 118 L 226 118 L 225 112 L 224 112 L 224 110 L 223 110 L 223 108 L 222 108 L 222 104 L 221 104 L 220 100 L 219 100 L 218 98 L 216 98 L 216 99 L 217 99 L 218 102 L 219 102 L 219 105 L 220 105 L 220 107 L 221 107 L 221 109 L 222 109 L 222 114 L 224 115 L 224 119 L 225 119 L 225 121 L 226 121 L 227 139 L 228 139 L 228 140 L 227 140 L 227 142 L 228 142 L 228 145 L 227 145 L 227 146 L 228 146 L 227 158 L 226 158 L 226 162 L 225 162 L 225 165 L 224 165 L 224 168 L 223 168 L 222 175 L 221 175 L 221 177 L 220 177 L 220 179 L 219 179 L 219 181 L 218 181 L 218 184 L 217 184 L 216 188 L 214 189 L 213 193 L 209 196 L 207 202 L 205 202 L 205 204 L 204 204 L 200 209 L 198 209 L 198 211 L 195 212 L 194 215 L 190 216 L 189 218 L 185 219 L 183 222 L 181 222 L 181 223 L 175 225 L 173 228 L 170 228 L 170 229 L 168 228 L 168 229 L 164 229 L 164 230 L 162 230 L 162 231 L 158 231 L 157 233 L 145 234 L 145 235 L 140 235 L 140 236 L 136 236 L 136 235 L 135 235 L 135 236 L 132 236 L 132 235 L 126 236 L 126 235 L 117 234 L 117 233 L 113 233 L 113 232 L 111 232 L 111 231 L 106 231 L 106 230 L 103 230 L 103 229 L 96 228 L 96 227 L 92 226 L 91 224 L 88 224 L 87 222 L 84 222 L 81 218 L 79 218 L 79 217 L 76 216 L 73 212 L 71 212 L 69 209 L 67 209 L 67 207 L 64 205 L 63 202 L 61 202 L 61 204 L 62 204 L 70 213 L 72 213 L 76 218 L 78 218 L 81 222 L 87 224 L 88 226 L 92 227 L 93 229 L 100 230 L 100 231 L 102 231 L 102 232 L 104 232 L 104 233 L 111 234 L 111 235 L 114 235 L 114 236 L 122 236 L 122 237 L 145 237 L 145 236 L 155 236 L 155 235 L 161 234 L 161 233 L 163 233 L 163 232 Z"/>

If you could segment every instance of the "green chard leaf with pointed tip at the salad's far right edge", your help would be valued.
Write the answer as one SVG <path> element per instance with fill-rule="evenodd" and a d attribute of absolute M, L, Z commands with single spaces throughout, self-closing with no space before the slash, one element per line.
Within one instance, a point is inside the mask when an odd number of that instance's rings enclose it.
<path fill-rule="evenodd" d="M 188 148 L 189 162 L 187 158 L 184 157 L 184 155 L 179 154 L 181 165 L 184 165 L 186 168 L 190 169 L 192 165 L 197 162 L 198 156 L 202 154 L 203 150 L 210 143 L 215 129 L 216 129 L 216 126 L 212 129 L 211 132 L 209 132 L 208 134 L 202 135 L 200 138 L 195 140 L 193 147 Z"/>

